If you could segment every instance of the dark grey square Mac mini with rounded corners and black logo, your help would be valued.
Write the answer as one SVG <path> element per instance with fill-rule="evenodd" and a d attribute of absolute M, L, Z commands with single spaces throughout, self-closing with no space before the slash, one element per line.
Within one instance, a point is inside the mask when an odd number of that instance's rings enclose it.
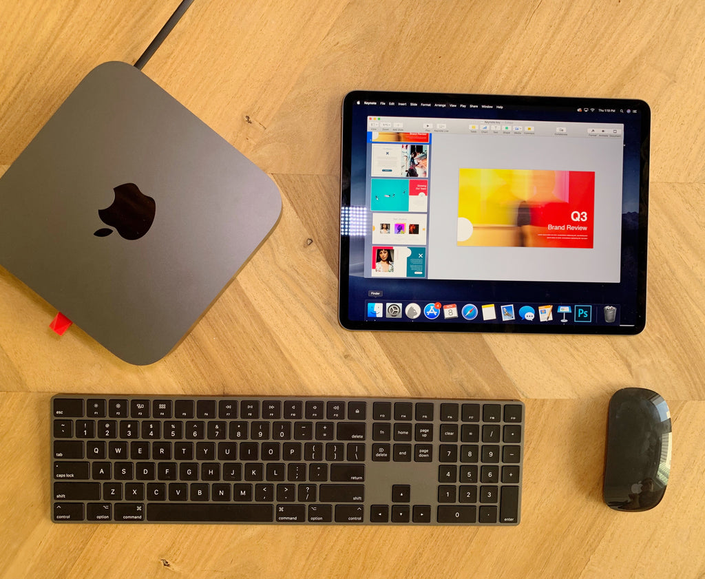
<path fill-rule="evenodd" d="M 0 265 L 156 362 L 276 225 L 274 182 L 127 63 L 94 68 L 0 179 Z"/>

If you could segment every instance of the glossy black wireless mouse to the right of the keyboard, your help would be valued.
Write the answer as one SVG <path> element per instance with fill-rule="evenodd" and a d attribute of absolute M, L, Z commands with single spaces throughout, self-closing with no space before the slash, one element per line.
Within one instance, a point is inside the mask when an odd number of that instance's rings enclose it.
<path fill-rule="evenodd" d="M 610 400 L 603 497 L 618 511 L 648 511 L 666 492 L 670 410 L 656 392 L 625 388 Z"/>

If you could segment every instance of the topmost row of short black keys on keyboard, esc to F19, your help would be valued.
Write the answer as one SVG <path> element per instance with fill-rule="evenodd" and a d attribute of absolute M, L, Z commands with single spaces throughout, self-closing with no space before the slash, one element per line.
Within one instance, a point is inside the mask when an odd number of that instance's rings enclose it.
<path fill-rule="evenodd" d="M 85 402 L 85 405 L 84 405 Z M 441 403 L 443 422 L 522 422 L 522 407 L 499 403 Z M 54 398 L 56 418 L 178 418 L 245 420 L 367 420 L 367 402 L 315 400 L 228 400 Z M 432 422 L 434 403 L 372 403 L 373 420 Z"/>

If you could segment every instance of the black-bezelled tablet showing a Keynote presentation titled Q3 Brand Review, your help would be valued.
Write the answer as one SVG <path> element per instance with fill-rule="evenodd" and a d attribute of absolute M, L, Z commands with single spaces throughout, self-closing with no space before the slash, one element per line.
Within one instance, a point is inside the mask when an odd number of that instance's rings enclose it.
<path fill-rule="evenodd" d="M 348 94 L 343 327 L 642 331 L 650 120 L 640 100 Z"/>

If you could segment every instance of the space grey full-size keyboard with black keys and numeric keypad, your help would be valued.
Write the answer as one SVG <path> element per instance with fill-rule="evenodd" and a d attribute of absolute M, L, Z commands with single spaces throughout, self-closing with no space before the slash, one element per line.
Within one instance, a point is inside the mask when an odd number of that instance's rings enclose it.
<path fill-rule="evenodd" d="M 524 405 L 51 398 L 56 523 L 517 525 Z"/>

